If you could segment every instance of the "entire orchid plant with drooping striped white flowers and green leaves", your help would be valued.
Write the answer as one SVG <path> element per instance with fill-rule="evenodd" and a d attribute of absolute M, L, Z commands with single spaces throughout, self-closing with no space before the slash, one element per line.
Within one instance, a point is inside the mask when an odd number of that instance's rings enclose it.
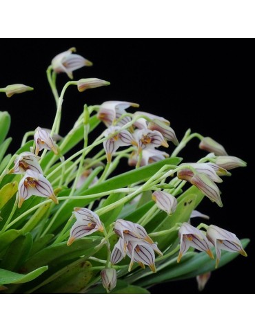
<path fill-rule="evenodd" d="M 149 293 L 154 284 L 187 278 L 202 290 L 213 270 L 247 256 L 249 239 L 240 241 L 231 225 L 194 223 L 209 219 L 196 208 L 205 196 L 222 207 L 218 183 L 246 163 L 190 129 L 179 141 L 169 120 L 136 111 L 134 102 L 81 105 L 62 133 L 68 87 L 110 84 L 73 80 L 73 71 L 92 65 L 74 51 L 55 56 L 47 70 L 57 109 L 51 129 L 35 124 L 18 151 L 6 154 L 10 115 L 0 112 L 0 291 Z M 59 94 L 61 73 L 70 81 Z M 32 88 L 23 84 L 0 89 L 7 97 L 26 91 Z M 179 154 L 193 138 L 207 154 L 183 163 Z M 113 175 L 125 163 L 130 170 Z"/>

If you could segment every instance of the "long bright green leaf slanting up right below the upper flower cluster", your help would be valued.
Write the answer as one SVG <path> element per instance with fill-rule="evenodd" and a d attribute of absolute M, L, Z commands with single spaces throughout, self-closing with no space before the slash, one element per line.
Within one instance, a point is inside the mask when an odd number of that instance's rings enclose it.
<path fill-rule="evenodd" d="M 132 183 L 137 183 L 139 181 L 144 181 L 147 178 L 153 176 L 156 172 L 161 169 L 164 165 L 178 165 L 181 162 L 181 158 L 166 158 L 165 160 L 161 160 L 157 163 L 153 163 L 151 165 L 143 166 L 138 169 L 132 169 L 129 172 L 125 172 L 124 174 L 120 174 L 110 178 L 99 185 L 94 185 L 93 187 L 85 190 L 81 193 L 81 195 L 86 196 L 90 194 L 97 194 L 100 192 L 107 192 L 109 190 L 119 189 L 120 187 L 127 187 Z M 75 207 L 84 207 L 88 205 L 90 202 L 94 201 L 94 199 L 73 199 L 69 201 L 65 207 L 59 213 L 57 220 L 55 221 L 52 228 L 50 228 L 50 232 L 54 232 L 59 225 L 64 223 L 67 219 L 67 216 L 72 214 L 72 211 Z M 61 205 L 59 206 L 59 208 Z"/>

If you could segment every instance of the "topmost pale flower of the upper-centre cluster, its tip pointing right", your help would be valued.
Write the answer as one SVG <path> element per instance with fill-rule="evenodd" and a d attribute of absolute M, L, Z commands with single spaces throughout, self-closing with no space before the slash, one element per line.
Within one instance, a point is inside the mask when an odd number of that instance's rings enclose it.
<path fill-rule="evenodd" d="M 117 123 L 118 126 L 122 127 L 131 120 L 130 116 L 125 116 L 125 113 L 127 113 L 125 109 L 128 109 L 128 107 L 139 107 L 139 104 L 119 101 L 103 102 L 97 114 L 97 118 L 103 121 L 106 127 L 110 127 L 116 125 L 116 121 L 120 117 L 123 117 Z"/>

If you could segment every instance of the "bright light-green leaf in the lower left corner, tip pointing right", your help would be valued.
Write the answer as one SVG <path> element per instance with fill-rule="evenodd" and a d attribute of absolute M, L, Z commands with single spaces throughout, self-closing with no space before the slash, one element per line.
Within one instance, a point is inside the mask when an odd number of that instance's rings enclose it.
<path fill-rule="evenodd" d="M 15 273 L 8 270 L 3 270 L 0 268 L 0 284 L 23 284 L 25 282 L 30 282 L 31 280 L 39 277 L 43 272 L 48 270 L 48 266 L 41 266 L 27 275 L 21 275 L 20 273 Z"/>

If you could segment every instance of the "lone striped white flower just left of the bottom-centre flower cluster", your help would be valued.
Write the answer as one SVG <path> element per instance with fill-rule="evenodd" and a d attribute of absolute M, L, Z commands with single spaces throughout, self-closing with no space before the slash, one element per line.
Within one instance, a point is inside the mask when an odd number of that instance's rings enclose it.
<path fill-rule="evenodd" d="M 74 208 L 73 212 L 76 221 L 70 230 L 70 237 L 68 239 L 68 246 L 70 246 L 76 239 L 85 237 L 99 230 L 103 232 L 103 225 L 99 216 L 93 211 L 86 208 Z"/>

